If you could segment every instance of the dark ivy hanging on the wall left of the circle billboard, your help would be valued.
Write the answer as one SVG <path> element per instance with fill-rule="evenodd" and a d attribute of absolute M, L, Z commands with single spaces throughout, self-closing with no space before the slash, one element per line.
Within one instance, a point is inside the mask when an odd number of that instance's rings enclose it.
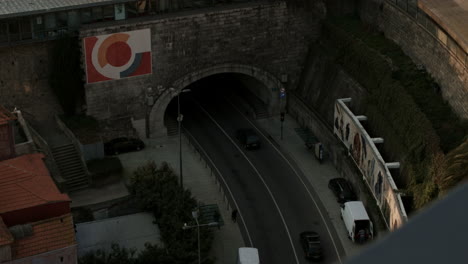
<path fill-rule="evenodd" d="M 51 54 L 50 86 L 65 115 L 73 115 L 84 97 L 78 38 L 65 36 L 56 40 Z"/>

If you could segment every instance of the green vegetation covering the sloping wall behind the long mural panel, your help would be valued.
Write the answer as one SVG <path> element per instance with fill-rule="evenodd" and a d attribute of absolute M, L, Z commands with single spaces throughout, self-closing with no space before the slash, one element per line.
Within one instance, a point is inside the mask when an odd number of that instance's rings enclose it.
<path fill-rule="evenodd" d="M 390 156 L 402 162 L 415 208 L 466 178 L 456 165 L 459 160 L 450 157 L 466 154 L 467 124 L 444 102 L 431 76 L 356 18 L 329 19 L 323 32 L 324 42 L 335 47 L 335 61 L 366 88 L 369 127 L 385 138 Z"/>

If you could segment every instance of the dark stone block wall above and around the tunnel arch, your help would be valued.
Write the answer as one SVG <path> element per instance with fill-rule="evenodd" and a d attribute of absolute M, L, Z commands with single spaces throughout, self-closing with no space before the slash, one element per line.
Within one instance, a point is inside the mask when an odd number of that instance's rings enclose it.
<path fill-rule="evenodd" d="M 308 43 L 317 37 L 317 19 L 306 19 L 300 10 L 287 9 L 284 2 L 250 3 L 83 29 L 81 37 L 150 28 L 152 39 L 153 74 L 87 84 L 87 112 L 99 120 L 127 116 L 138 122 L 149 118 L 150 133 L 156 135 L 164 126 L 162 118 L 153 115 L 165 111 L 172 98 L 167 89 L 181 90 L 209 76 L 206 73 L 242 68 L 247 70 L 240 73 L 250 76 L 273 76 L 271 83 L 287 75 L 287 85 L 293 87 Z M 149 94 L 148 87 L 152 87 Z M 267 87 L 271 92 L 278 89 Z M 157 111 L 147 105 L 147 96 L 153 97 Z"/>

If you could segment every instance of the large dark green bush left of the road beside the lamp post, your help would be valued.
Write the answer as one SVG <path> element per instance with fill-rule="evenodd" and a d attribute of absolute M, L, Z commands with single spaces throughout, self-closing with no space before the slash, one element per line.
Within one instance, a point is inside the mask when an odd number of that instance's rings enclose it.
<path fill-rule="evenodd" d="M 197 207 L 190 191 L 180 188 L 177 176 L 172 168 L 163 163 L 157 167 L 150 162 L 139 167 L 131 178 L 130 190 L 140 201 L 142 209 L 152 211 L 161 230 L 167 255 L 158 255 L 168 259 L 168 263 L 194 263 L 198 257 L 196 229 L 183 230 L 184 223 L 194 224 L 192 211 Z M 203 223 L 200 223 L 203 224 Z M 212 263 L 208 258 L 213 233 L 209 228 L 200 229 L 201 255 L 203 263 Z M 148 257 L 151 252 L 145 253 Z"/>

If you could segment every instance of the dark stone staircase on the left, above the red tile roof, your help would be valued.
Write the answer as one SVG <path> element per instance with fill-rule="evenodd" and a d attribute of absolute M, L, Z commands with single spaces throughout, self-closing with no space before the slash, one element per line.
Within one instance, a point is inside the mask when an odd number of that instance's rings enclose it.
<path fill-rule="evenodd" d="M 89 186 L 89 179 L 80 155 L 72 143 L 52 147 L 52 156 L 60 174 L 65 179 L 67 192 L 85 189 Z"/>

